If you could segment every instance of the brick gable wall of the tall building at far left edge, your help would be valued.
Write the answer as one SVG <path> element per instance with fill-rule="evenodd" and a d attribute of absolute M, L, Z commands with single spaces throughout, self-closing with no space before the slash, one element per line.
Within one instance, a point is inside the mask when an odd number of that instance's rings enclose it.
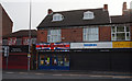
<path fill-rule="evenodd" d="M 13 22 L 7 14 L 7 12 L 2 9 L 2 35 L 12 33 Z"/>

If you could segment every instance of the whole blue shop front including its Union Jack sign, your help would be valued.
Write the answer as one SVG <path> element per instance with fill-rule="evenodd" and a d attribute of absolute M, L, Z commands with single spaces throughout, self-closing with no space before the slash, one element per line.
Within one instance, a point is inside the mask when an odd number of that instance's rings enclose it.
<path fill-rule="evenodd" d="M 41 70 L 69 70 L 69 43 L 37 44 L 37 61 Z"/>

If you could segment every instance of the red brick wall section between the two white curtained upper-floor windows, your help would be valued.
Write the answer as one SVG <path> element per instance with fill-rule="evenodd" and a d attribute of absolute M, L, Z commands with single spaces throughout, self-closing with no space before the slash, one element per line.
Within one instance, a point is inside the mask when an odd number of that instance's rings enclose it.
<path fill-rule="evenodd" d="M 62 28 L 62 42 L 82 42 L 82 28 Z"/>

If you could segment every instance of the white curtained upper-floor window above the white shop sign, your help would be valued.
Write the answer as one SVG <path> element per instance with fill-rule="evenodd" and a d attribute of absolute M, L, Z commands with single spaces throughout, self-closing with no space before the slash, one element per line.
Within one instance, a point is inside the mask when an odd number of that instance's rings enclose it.
<path fill-rule="evenodd" d="M 84 28 L 84 42 L 99 40 L 98 27 Z"/>

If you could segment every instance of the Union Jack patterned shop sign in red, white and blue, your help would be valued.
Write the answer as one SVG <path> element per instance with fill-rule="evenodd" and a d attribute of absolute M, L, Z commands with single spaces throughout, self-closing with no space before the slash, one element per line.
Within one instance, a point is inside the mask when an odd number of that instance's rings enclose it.
<path fill-rule="evenodd" d="M 36 49 L 69 49 L 69 43 L 43 43 L 43 44 L 36 44 Z"/>

